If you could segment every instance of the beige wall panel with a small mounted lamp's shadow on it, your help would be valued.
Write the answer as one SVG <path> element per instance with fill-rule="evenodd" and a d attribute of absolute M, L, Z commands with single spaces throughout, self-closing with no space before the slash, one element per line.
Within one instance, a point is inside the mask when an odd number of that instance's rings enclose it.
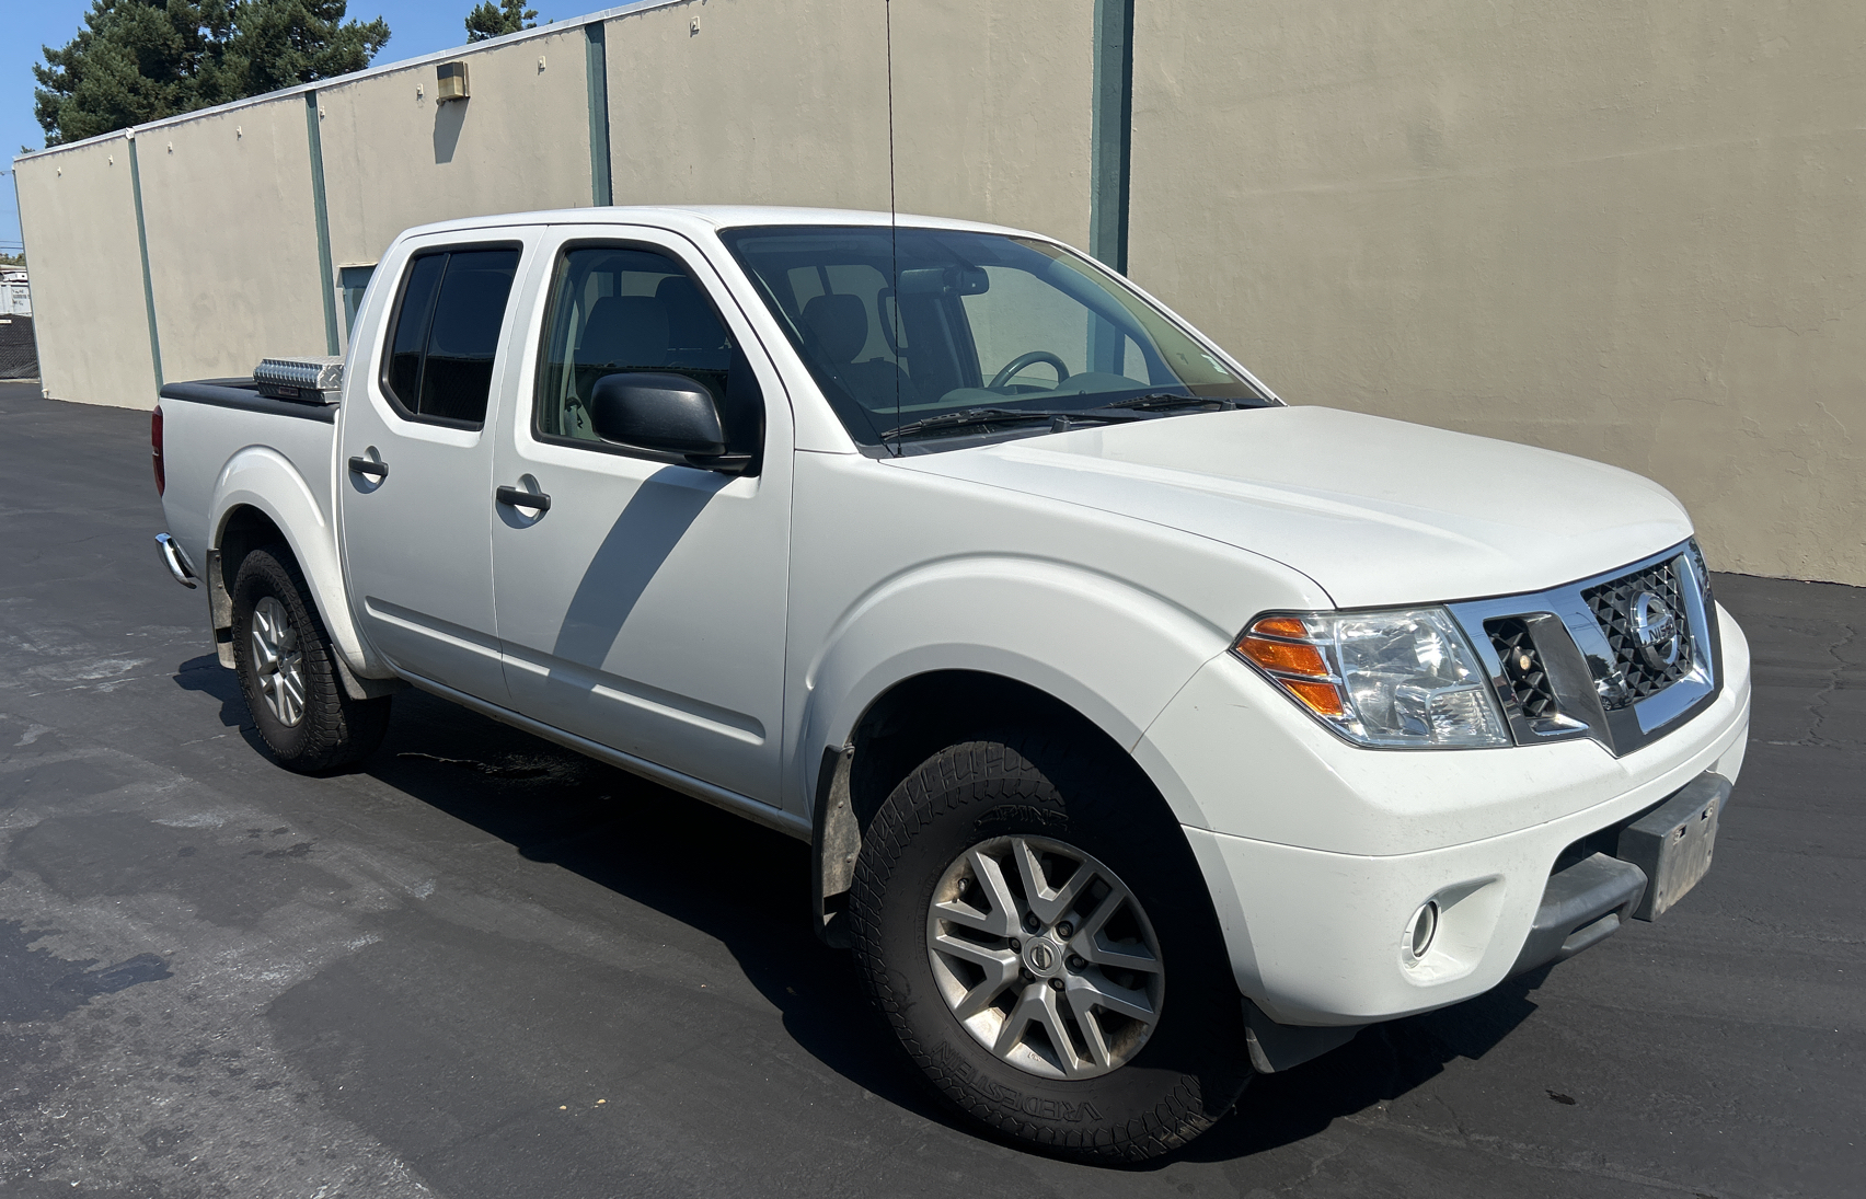
<path fill-rule="evenodd" d="M 582 26 L 455 58 L 466 101 L 435 103 L 433 63 L 319 90 L 336 265 L 377 261 L 409 226 L 590 205 Z"/>

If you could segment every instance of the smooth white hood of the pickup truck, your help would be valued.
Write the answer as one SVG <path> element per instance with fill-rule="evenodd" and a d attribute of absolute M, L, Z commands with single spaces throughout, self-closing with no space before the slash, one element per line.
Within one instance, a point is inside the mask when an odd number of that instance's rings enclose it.
<path fill-rule="evenodd" d="M 898 459 L 1273 558 L 1342 608 L 1539 591 L 1691 535 L 1618 466 L 1336 408 L 1252 408 Z"/>

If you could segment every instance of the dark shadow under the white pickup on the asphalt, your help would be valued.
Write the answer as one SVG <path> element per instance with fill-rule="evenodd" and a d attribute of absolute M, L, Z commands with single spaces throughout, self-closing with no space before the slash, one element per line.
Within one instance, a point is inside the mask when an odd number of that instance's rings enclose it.
<path fill-rule="evenodd" d="M 237 692 L 231 705 L 244 712 Z M 810 858 L 801 841 L 424 692 L 396 697 L 388 740 L 362 772 L 532 861 L 560 865 L 705 932 L 782 1013 L 799 1048 L 886 1102 L 989 1137 L 950 1111 L 905 1057 L 862 994 L 851 957 L 812 934 Z M 694 869 L 694 854 L 668 852 L 670 845 L 703 847 L 705 869 Z M 1487 1054 L 1536 1011 L 1528 996 L 1545 975 L 1532 972 L 1457 1007 L 1373 1026 L 1295 1070 L 1260 1076 L 1191 1147 L 1131 1169 L 1248 1158 L 1398 1098 L 1450 1061 Z"/>

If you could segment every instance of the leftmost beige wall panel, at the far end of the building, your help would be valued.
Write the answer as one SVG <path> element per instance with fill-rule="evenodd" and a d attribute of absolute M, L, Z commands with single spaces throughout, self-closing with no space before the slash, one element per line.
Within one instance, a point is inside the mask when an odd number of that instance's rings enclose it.
<path fill-rule="evenodd" d="M 153 407 L 129 140 L 39 155 L 15 170 L 45 393 Z"/>

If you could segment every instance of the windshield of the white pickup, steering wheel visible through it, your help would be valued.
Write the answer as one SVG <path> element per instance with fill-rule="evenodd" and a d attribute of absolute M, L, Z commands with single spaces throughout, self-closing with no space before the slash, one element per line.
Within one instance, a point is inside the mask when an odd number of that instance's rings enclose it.
<path fill-rule="evenodd" d="M 1043 241 L 886 226 L 720 237 L 862 446 L 1271 403 L 1114 276 Z"/>

